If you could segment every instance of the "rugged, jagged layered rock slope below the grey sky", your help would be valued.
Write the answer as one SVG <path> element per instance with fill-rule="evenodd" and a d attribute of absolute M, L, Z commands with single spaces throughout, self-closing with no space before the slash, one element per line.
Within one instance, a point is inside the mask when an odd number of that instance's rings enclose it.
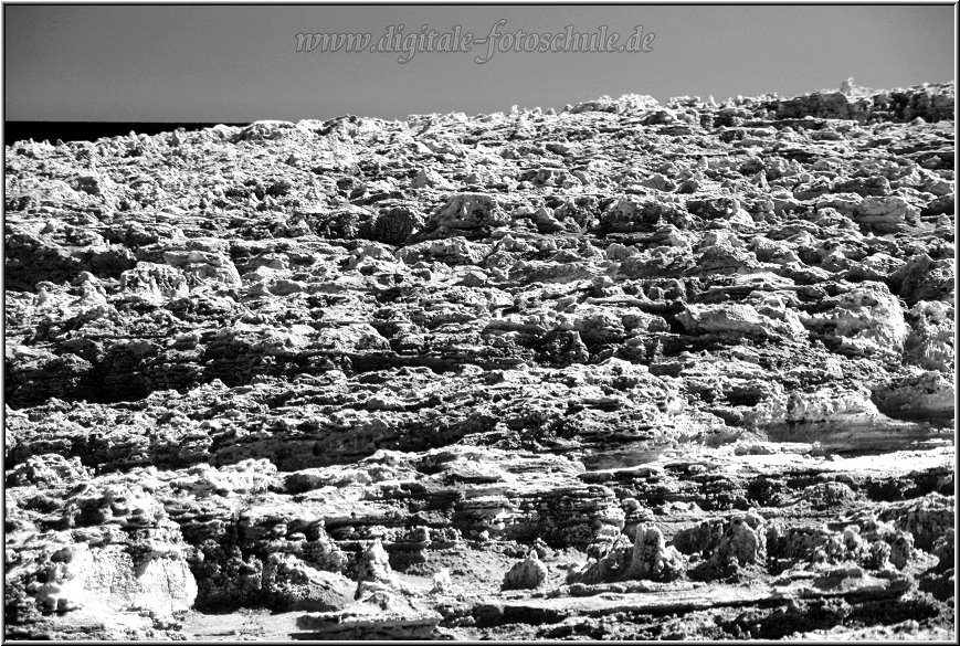
<path fill-rule="evenodd" d="M 7 637 L 954 638 L 953 95 L 8 146 Z"/>

